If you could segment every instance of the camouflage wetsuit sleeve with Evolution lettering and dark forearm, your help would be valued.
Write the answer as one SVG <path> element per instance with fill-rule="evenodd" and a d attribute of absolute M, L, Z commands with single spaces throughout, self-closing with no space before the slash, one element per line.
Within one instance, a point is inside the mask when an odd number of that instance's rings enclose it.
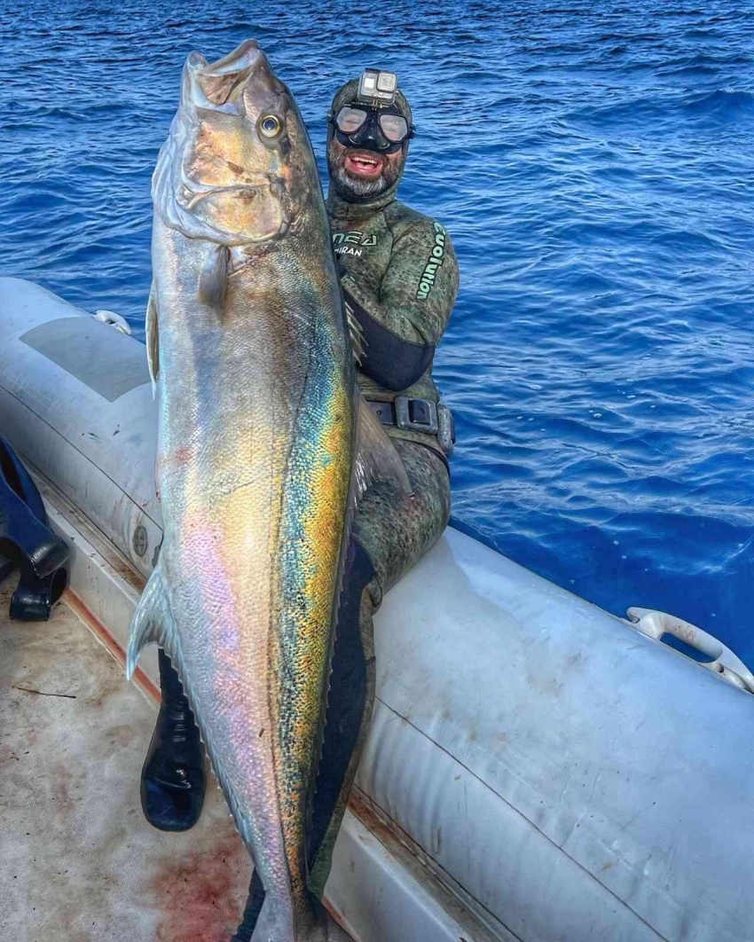
<path fill-rule="evenodd" d="M 458 263 L 445 229 L 422 219 L 396 238 L 376 298 L 351 275 L 340 284 L 363 335 L 360 368 L 395 391 L 417 382 L 432 363 L 458 292 Z"/>

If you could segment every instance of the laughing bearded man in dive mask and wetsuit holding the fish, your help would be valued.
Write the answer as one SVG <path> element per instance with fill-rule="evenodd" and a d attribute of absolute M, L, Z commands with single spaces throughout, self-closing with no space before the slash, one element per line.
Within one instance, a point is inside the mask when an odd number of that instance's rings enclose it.
<path fill-rule="evenodd" d="M 411 109 L 393 73 L 368 69 L 336 93 L 328 115 L 327 209 L 352 328 L 357 378 L 401 455 L 412 494 L 377 482 L 356 512 L 338 611 L 309 862 L 324 889 L 374 699 L 372 616 L 383 594 L 448 523 L 452 420 L 432 379 L 434 348 L 451 315 L 458 267 L 433 219 L 396 200 Z M 159 652 L 162 706 L 141 777 L 144 814 L 162 830 L 199 817 L 204 757 L 170 660 Z M 247 942 L 264 891 L 253 880 L 235 942 Z"/>

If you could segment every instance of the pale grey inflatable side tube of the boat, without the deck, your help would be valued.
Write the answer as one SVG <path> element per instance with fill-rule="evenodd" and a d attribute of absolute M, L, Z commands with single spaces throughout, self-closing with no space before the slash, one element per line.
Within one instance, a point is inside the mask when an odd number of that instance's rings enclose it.
<path fill-rule="evenodd" d="M 123 658 L 161 538 L 156 407 L 143 347 L 98 317 L 0 279 L 0 434 L 72 548 L 63 604 Z M 754 935 L 754 677 L 713 637 L 616 618 L 451 527 L 386 595 L 376 643 L 326 891 L 354 939 Z"/>

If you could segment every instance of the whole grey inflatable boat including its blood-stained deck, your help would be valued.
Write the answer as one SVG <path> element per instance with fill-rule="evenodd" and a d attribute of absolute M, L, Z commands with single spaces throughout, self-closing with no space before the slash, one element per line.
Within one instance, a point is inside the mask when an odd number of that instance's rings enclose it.
<path fill-rule="evenodd" d="M 116 661 L 161 537 L 156 409 L 143 347 L 100 317 L 0 279 L 0 434 L 72 549 L 52 621 L 0 625 L 0 937 L 209 942 L 248 858 L 219 792 L 184 835 L 140 815 L 154 717 Z M 326 893 L 354 939 L 751 937 L 754 677 L 694 625 L 630 615 L 452 527 L 388 593 Z M 154 698 L 155 649 L 143 666 Z"/>

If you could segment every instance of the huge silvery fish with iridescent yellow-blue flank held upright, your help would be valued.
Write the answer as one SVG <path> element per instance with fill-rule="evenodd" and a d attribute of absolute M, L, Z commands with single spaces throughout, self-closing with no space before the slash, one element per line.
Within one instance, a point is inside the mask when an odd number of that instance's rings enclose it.
<path fill-rule="evenodd" d="M 254 940 L 346 939 L 306 889 L 305 822 L 352 506 L 407 482 L 354 392 L 314 154 L 254 41 L 188 57 L 153 200 L 164 540 L 127 671 L 156 642 L 181 676 L 265 886 Z"/>

